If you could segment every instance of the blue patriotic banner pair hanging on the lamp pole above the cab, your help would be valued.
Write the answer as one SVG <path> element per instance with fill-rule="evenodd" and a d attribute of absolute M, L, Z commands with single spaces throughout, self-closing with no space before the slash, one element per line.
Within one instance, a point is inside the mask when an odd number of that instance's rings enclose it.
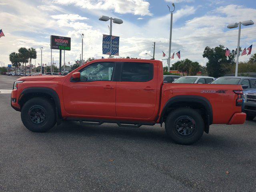
<path fill-rule="evenodd" d="M 119 55 L 119 37 L 103 35 L 102 54 L 110 55 L 110 40 L 112 41 L 111 55 Z"/>

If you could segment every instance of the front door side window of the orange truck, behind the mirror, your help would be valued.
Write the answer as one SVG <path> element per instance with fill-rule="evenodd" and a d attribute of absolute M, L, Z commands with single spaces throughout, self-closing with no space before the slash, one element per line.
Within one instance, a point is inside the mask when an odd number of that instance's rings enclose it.
<path fill-rule="evenodd" d="M 114 63 L 93 63 L 80 71 L 80 81 L 111 81 Z"/>

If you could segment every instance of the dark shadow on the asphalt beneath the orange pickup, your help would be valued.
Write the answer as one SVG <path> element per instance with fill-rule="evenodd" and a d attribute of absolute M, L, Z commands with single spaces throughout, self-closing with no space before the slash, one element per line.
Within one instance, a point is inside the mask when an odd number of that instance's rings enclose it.
<path fill-rule="evenodd" d="M 256 121 L 255 121 L 256 122 Z M 228 130 L 227 130 L 228 132 Z M 141 126 L 140 128 L 123 128 L 116 124 L 102 124 L 100 126 L 81 125 L 79 122 L 64 121 L 60 126 L 54 126 L 48 133 L 71 134 L 80 137 L 99 137 L 104 139 L 125 139 L 138 140 L 139 142 L 158 142 L 162 144 L 175 144 L 166 135 L 164 125 L 160 126 Z M 79 138 L 78 136 L 78 138 Z M 213 148 L 234 148 L 238 141 L 240 145 L 246 144 L 244 140 L 238 140 L 230 136 L 223 136 L 218 132 L 204 133 L 202 138 L 191 146 L 204 146 Z M 220 146 L 220 144 L 222 146 Z M 178 145 L 178 144 L 177 144 Z M 180 146 L 180 145 L 179 145 Z"/>

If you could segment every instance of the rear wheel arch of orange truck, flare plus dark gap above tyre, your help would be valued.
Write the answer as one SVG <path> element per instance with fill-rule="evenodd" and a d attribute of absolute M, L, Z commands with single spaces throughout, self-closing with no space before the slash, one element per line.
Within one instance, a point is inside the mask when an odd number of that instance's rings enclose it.
<path fill-rule="evenodd" d="M 209 132 L 209 126 L 213 122 L 213 113 L 212 113 L 212 105 L 210 101 L 202 96 L 194 96 L 194 95 L 184 95 L 184 96 L 174 96 L 170 98 L 161 112 L 160 123 L 164 122 L 164 117 L 170 112 L 172 108 L 178 107 L 191 107 L 200 109 L 203 108 L 206 111 L 206 116 L 204 117 L 204 121 L 206 123 L 205 132 Z"/>

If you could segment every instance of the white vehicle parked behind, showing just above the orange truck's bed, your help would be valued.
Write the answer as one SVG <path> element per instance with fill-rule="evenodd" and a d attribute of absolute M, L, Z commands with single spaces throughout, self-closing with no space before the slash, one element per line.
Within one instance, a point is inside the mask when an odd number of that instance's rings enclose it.
<path fill-rule="evenodd" d="M 198 83 L 198 84 L 208 84 L 212 82 L 215 78 L 208 76 L 183 76 L 178 78 L 173 83 Z"/>

